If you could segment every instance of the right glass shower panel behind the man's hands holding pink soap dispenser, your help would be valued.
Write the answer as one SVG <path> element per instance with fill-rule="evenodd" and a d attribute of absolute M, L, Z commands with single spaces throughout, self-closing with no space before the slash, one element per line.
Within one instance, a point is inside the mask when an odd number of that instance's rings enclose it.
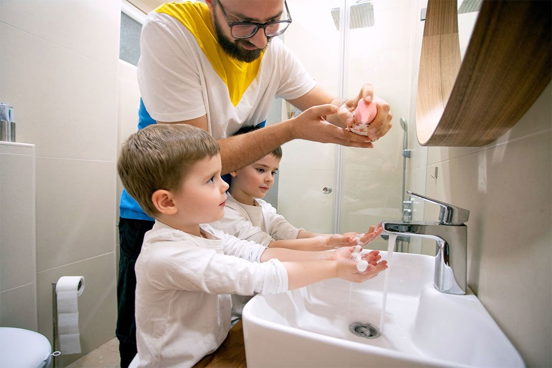
<path fill-rule="evenodd" d="M 411 108 L 412 90 L 416 90 L 416 84 L 412 88 L 415 2 L 373 0 L 370 3 L 372 7 L 368 10 L 373 20 L 369 26 L 355 24 L 360 15 L 356 14 L 354 5 L 351 7 L 347 95 L 357 94 L 363 83 L 373 84 L 375 96 L 391 106 L 393 127 L 374 143 L 372 150 L 343 148 L 339 232 L 362 231 L 381 220 L 401 218 L 402 180 L 410 169 L 410 159 L 406 159 L 405 168 L 403 165 L 405 130 L 401 129 L 399 119 L 408 122 L 413 121 L 411 115 L 415 117 L 415 105 Z M 371 247 L 387 249 L 387 244 L 379 238 Z"/>

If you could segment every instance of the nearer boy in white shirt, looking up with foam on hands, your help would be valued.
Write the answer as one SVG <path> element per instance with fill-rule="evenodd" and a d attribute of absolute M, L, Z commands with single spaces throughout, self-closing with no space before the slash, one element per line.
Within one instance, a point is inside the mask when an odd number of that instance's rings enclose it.
<path fill-rule="evenodd" d="M 275 294 L 329 278 L 362 282 L 387 268 L 377 251 L 266 248 L 206 223 L 224 215 L 228 185 L 219 145 L 186 124 L 151 125 L 132 134 L 118 161 L 121 181 L 155 225 L 136 262 L 136 341 L 140 366 L 193 366 L 230 329 L 229 294 Z"/>

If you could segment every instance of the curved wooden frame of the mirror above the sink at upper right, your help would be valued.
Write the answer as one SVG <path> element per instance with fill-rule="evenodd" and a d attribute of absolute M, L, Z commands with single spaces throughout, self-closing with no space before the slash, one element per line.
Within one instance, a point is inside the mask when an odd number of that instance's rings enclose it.
<path fill-rule="evenodd" d="M 483 0 L 460 61 L 456 1 L 428 0 L 418 76 L 422 146 L 487 145 L 552 78 L 552 2 Z"/>

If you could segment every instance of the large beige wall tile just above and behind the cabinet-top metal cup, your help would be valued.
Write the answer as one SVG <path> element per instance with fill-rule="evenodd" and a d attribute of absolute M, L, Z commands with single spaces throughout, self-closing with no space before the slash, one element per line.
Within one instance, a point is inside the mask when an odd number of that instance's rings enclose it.
<path fill-rule="evenodd" d="M 10 50 L 2 55 L 2 99 L 15 106 L 17 140 L 34 143 L 37 157 L 113 160 L 116 65 L 3 23 L 0 32 L 0 48 Z"/>

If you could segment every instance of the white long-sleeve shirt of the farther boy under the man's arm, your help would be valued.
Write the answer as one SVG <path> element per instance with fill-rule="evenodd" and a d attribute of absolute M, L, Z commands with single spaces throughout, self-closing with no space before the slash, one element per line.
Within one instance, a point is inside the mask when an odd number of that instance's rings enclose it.
<path fill-rule="evenodd" d="M 276 209 L 262 199 L 255 199 L 258 206 L 248 206 L 226 194 L 224 217 L 211 223 L 219 230 L 231 234 L 237 238 L 252 241 L 268 247 L 273 240 L 296 239 L 299 231 L 278 215 Z"/>

